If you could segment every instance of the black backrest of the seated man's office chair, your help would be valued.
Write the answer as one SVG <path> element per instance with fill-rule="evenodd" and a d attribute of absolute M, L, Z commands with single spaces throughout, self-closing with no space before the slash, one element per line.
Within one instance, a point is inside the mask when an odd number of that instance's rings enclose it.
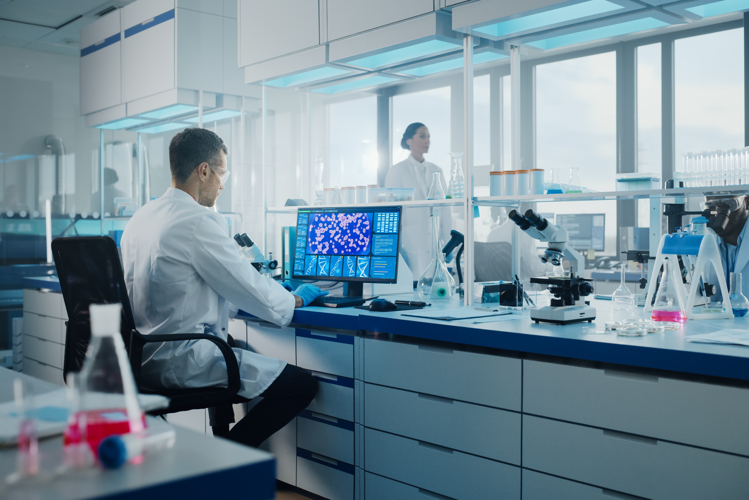
<path fill-rule="evenodd" d="M 79 371 L 91 338 L 88 306 L 91 304 L 122 304 L 120 332 L 130 347 L 130 332 L 135 329 L 130 299 L 112 238 L 69 237 L 52 240 L 57 275 L 67 310 L 63 374 Z"/>

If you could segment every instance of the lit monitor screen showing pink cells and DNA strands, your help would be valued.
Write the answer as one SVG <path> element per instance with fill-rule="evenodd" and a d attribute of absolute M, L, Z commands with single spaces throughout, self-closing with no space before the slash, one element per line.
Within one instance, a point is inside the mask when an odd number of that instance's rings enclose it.
<path fill-rule="evenodd" d="M 294 277 L 327 281 L 395 283 L 401 207 L 300 207 Z"/>

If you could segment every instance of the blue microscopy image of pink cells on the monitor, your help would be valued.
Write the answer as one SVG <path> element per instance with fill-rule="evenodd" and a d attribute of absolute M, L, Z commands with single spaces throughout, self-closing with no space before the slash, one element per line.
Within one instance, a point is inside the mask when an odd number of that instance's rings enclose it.
<path fill-rule="evenodd" d="M 372 243 L 372 213 L 310 213 L 307 253 L 366 255 Z"/>

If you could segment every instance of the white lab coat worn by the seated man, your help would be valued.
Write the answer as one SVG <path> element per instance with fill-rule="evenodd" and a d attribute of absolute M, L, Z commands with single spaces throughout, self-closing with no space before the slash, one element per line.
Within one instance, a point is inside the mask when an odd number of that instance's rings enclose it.
<path fill-rule="evenodd" d="M 173 187 L 135 213 L 121 247 L 139 332 L 202 333 L 226 340 L 230 309 L 236 313 L 237 308 L 277 325 L 291 323 L 294 296 L 241 258 L 227 231 L 222 216 Z M 234 354 L 238 394 L 247 398 L 264 391 L 286 365 L 248 350 L 234 349 Z M 149 388 L 228 383 L 224 357 L 210 341 L 146 344 L 143 359 Z"/>

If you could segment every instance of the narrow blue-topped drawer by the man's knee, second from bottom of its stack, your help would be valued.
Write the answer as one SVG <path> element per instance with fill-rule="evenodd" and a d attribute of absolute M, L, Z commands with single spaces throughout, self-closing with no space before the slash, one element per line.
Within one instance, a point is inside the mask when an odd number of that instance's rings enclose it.
<path fill-rule="evenodd" d="M 297 445 L 353 464 L 354 422 L 303 409 L 297 418 Z"/>

